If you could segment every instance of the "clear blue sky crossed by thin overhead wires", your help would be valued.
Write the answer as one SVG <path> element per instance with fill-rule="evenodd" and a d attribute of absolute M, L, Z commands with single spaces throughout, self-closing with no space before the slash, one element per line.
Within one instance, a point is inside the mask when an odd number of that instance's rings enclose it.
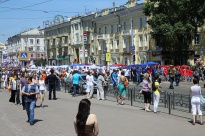
<path fill-rule="evenodd" d="M 0 0 L 0 42 L 28 28 L 43 28 L 43 21 L 54 16 L 75 16 L 78 13 L 123 5 L 128 0 Z M 141 2 L 142 0 L 140 0 Z"/>

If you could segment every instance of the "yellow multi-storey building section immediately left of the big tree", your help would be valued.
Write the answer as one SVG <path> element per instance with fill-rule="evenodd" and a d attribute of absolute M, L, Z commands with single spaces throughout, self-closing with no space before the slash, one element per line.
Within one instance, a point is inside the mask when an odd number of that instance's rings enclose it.
<path fill-rule="evenodd" d="M 107 64 L 144 63 L 149 59 L 149 31 L 143 4 L 130 0 L 124 6 L 104 9 L 94 19 L 96 28 L 96 59 L 106 64 L 105 54 L 111 53 Z"/>

